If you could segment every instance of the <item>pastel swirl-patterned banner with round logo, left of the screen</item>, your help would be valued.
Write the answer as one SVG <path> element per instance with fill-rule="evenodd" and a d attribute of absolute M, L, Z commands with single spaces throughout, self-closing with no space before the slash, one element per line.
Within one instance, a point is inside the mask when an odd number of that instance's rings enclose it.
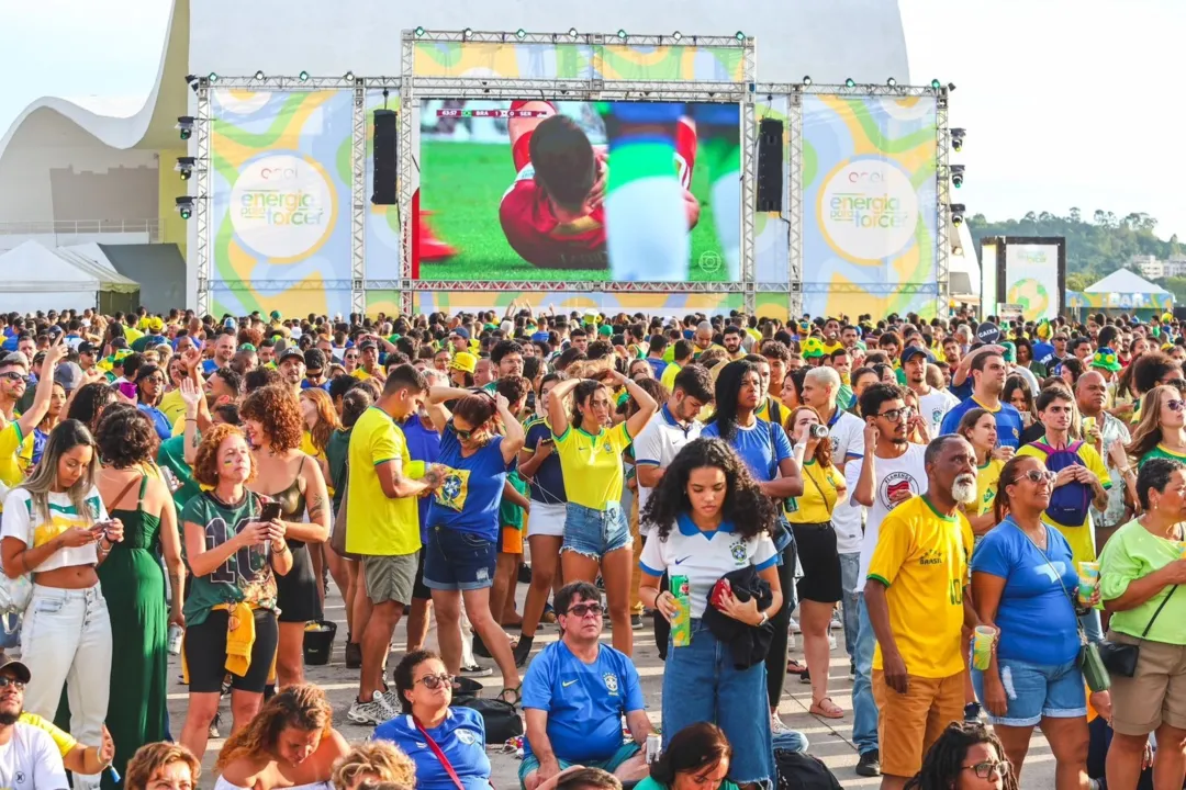
<path fill-rule="evenodd" d="M 350 313 L 350 91 L 218 89 L 212 313 Z"/>

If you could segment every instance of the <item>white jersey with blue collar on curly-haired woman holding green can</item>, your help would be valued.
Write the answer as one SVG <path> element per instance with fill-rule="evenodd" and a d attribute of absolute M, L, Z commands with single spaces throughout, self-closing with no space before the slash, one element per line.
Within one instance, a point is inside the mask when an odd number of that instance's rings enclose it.
<path fill-rule="evenodd" d="M 722 576 L 746 565 L 763 571 L 777 561 L 774 541 L 765 532 L 746 539 L 734 534 L 733 525 L 725 522 L 709 534 L 681 515 L 665 540 L 656 535 L 646 541 L 639 565 L 643 573 L 656 578 L 663 573 L 688 577 L 691 616 L 702 617 L 708 593 Z"/>

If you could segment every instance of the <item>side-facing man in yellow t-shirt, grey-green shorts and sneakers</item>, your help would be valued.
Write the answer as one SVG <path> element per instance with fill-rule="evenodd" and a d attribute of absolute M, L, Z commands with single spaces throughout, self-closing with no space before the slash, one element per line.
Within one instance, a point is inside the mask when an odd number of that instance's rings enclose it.
<path fill-rule="evenodd" d="M 359 694 L 346 714 L 357 724 L 382 724 L 402 707 L 395 691 L 383 683 L 383 660 L 403 608 L 412 602 L 421 547 L 416 497 L 438 488 L 442 475 L 433 468 L 423 480 L 408 476 L 410 457 L 398 423 L 419 412 L 427 394 L 425 377 L 412 365 L 400 365 L 350 435 L 346 551 L 359 555 L 366 579 L 353 621 L 363 651 Z"/>

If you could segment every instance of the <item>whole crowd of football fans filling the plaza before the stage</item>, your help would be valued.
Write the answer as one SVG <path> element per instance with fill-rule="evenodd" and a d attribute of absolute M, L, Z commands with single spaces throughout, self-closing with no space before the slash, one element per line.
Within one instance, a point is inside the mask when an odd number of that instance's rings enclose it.
<path fill-rule="evenodd" d="M 884 789 L 1020 786 L 1035 726 L 1058 790 L 1181 788 L 1186 333 L 990 322 L 0 316 L 0 784 L 193 786 L 225 734 L 225 790 L 487 788 L 497 672 L 525 790 L 770 786 L 836 630 Z"/>

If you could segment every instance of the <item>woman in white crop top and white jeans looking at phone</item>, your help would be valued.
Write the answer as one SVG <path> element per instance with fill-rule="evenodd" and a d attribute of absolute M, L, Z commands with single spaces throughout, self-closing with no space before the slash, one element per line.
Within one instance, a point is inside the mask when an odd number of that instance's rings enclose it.
<path fill-rule="evenodd" d="M 37 667 L 25 709 L 53 719 L 66 686 L 70 734 L 97 744 L 111 681 L 111 621 L 98 565 L 123 540 L 98 492 L 98 449 L 85 425 L 68 419 L 52 431 L 37 469 L 5 500 L 0 559 L 9 579 L 32 574 L 33 597 L 21 629 L 21 659 Z M 97 775 L 75 775 L 97 788 Z"/>

